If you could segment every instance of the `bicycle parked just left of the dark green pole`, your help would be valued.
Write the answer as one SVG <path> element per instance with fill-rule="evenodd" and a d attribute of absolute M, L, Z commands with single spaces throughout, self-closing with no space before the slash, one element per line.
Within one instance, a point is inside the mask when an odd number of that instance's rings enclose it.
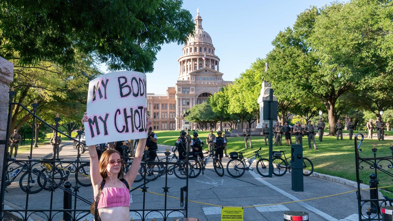
<path fill-rule="evenodd" d="M 269 174 L 266 174 L 266 171 L 268 172 L 268 167 L 269 167 L 269 160 L 266 158 L 261 158 L 261 155 L 259 155 L 259 151 L 261 151 L 262 147 L 259 147 L 257 151 L 254 151 L 255 155 L 251 158 L 244 158 L 243 153 L 244 152 L 231 152 L 230 157 L 232 158 L 228 164 L 226 165 L 226 170 L 228 171 L 228 174 L 231 175 L 231 177 L 241 177 L 244 172 L 247 170 L 253 171 L 254 169 L 251 168 L 252 163 L 254 162 L 255 158 L 258 157 L 257 161 L 257 171 L 258 173 L 263 176 L 263 177 L 268 177 Z M 250 159 L 250 160 L 248 160 Z M 248 160 L 248 166 L 246 166 L 246 160 Z"/>

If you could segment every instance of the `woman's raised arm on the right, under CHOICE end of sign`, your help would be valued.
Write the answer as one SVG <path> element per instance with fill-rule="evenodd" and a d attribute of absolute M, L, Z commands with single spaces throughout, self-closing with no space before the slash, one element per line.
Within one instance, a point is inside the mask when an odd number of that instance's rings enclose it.
<path fill-rule="evenodd" d="M 149 128 L 151 125 L 152 125 L 152 121 L 150 120 L 150 116 L 148 115 L 147 128 Z M 139 139 L 138 146 L 136 147 L 136 151 L 135 151 L 135 157 L 132 160 L 130 170 L 123 177 L 125 180 L 127 180 L 129 186 L 132 185 L 136 175 L 138 175 L 138 171 L 141 165 L 141 160 L 143 157 L 143 151 L 145 151 L 145 147 L 146 147 L 146 138 Z"/>

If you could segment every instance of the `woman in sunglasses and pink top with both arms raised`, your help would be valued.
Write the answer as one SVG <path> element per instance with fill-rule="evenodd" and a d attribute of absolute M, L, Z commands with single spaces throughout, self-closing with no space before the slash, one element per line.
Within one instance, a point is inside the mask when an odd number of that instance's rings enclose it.
<path fill-rule="evenodd" d="M 82 123 L 87 122 L 87 113 L 84 112 Z M 147 116 L 147 128 L 152 122 Z M 130 220 L 130 192 L 128 186 L 132 185 L 138 173 L 146 138 L 139 140 L 136 153 L 130 170 L 124 174 L 123 160 L 120 153 L 114 149 L 108 149 L 101 155 L 98 161 L 95 145 L 88 146 L 90 155 L 90 178 L 95 196 L 99 192 L 101 183 L 105 181 L 101 197 L 97 205 L 101 221 L 129 221 Z M 123 177 L 122 180 L 120 178 Z"/>

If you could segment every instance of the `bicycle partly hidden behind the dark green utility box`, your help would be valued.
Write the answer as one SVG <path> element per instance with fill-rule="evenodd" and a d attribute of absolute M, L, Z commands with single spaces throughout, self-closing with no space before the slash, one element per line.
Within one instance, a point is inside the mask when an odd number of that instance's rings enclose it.
<path fill-rule="evenodd" d="M 284 154 L 284 159 L 281 158 L 282 155 L 281 153 Z M 289 172 L 291 170 L 291 165 L 288 165 L 288 159 L 290 157 L 285 157 L 285 151 L 273 151 L 274 158 L 273 158 L 273 163 L 275 164 L 275 168 L 273 169 L 273 174 L 276 176 L 283 176 L 286 171 L 289 169 Z M 307 157 L 303 157 L 303 175 L 304 176 L 309 176 L 312 174 L 314 171 L 314 164 L 312 164 L 311 160 Z"/>

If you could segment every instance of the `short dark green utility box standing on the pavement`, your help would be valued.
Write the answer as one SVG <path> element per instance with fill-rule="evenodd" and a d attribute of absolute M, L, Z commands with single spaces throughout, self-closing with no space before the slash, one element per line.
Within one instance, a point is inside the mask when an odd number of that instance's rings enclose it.
<path fill-rule="evenodd" d="M 303 192 L 303 144 L 291 145 L 292 190 Z"/>

